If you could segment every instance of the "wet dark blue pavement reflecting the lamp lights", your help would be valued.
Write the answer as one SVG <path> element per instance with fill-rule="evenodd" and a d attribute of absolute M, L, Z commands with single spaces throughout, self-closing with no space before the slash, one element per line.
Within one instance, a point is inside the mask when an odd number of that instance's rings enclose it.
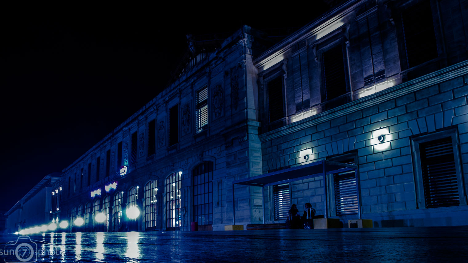
<path fill-rule="evenodd" d="M 467 262 L 468 259 L 468 226 L 46 233 L 29 237 L 37 244 L 37 262 L 383 263 Z M 5 248 L 15 248 L 27 240 L 21 238 L 18 241 L 22 242 L 16 242 L 17 238 L 14 234 L 0 234 L 4 254 L 8 254 Z M 31 245 L 34 247 L 34 243 Z M 2 257 L 11 260 L 11 255 Z"/>

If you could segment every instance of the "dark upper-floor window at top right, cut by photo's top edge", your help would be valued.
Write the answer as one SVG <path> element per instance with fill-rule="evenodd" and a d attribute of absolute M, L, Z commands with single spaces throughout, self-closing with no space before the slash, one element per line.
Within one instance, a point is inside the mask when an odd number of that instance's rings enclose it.
<path fill-rule="evenodd" d="M 431 3 L 424 1 L 401 13 L 406 66 L 411 68 L 437 58 Z"/>

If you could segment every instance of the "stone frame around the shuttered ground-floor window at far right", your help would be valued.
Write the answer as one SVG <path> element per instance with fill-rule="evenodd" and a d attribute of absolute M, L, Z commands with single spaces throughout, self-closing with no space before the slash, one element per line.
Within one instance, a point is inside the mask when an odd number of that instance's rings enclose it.
<path fill-rule="evenodd" d="M 433 207 L 433 208 L 426 208 L 427 204 L 425 202 L 424 197 L 424 181 L 423 181 L 423 173 L 422 173 L 422 166 L 421 166 L 421 155 L 420 155 L 420 148 L 419 145 L 421 143 L 430 142 L 436 139 L 451 137 L 452 138 L 452 147 L 453 147 L 453 159 L 455 161 L 455 171 L 457 173 L 457 184 L 458 184 L 458 196 L 460 200 L 460 205 L 467 205 L 466 197 L 465 197 L 465 188 L 463 185 L 463 174 L 461 173 L 461 159 L 460 153 L 458 150 L 458 145 L 460 141 L 458 139 L 458 131 L 457 129 L 448 129 L 445 131 L 436 131 L 431 132 L 425 135 L 419 135 L 415 137 L 411 137 L 411 153 L 413 157 L 413 168 L 414 168 L 414 176 L 415 176 L 415 190 L 416 190 L 416 204 L 417 209 L 437 209 L 437 208 L 446 208 L 448 206 L 443 207 Z"/>

